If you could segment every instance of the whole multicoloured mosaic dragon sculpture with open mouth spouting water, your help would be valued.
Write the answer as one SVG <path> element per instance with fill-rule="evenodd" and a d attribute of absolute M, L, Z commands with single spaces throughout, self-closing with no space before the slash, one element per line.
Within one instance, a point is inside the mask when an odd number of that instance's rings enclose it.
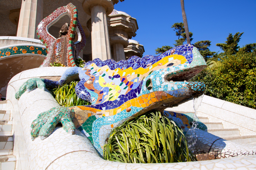
<path fill-rule="evenodd" d="M 61 122 L 73 134 L 82 131 L 102 153 L 102 146 L 111 129 L 124 121 L 150 110 L 163 111 L 205 90 L 204 83 L 187 82 L 206 67 L 198 49 L 186 44 L 174 47 L 162 55 L 133 56 L 128 60 L 94 59 L 83 68 L 68 68 L 59 81 L 32 78 L 16 93 L 16 98 L 27 90 L 42 90 L 69 83 L 79 77 L 75 90 L 79 98 L 91 102 L 89 106 L 55 107 L 38 115 L 31 125 L 31 136 L 49 136 Z M 166 113 L 186 132 L 194 121 L 188 115 Z M 202 123 L 199 128 L 205 130 Z"/>

